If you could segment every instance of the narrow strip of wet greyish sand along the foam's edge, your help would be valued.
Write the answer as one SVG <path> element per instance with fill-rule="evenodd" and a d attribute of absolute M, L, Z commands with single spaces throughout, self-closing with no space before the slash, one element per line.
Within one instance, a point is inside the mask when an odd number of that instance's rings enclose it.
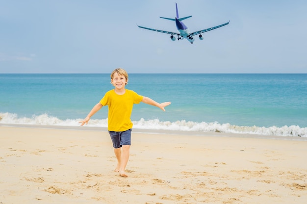
<path fill-rule="evenodd" d="M 39 128 L 39 129 L 59 129 L 59 130 L 82 130 L 82 131 L 103 131 L 107 132 L 105 127 L 93 126 L 61 126 L 61 125 L 28 125 L 28 124 L 1 124 L 0 127 L 21 127 L 21 128 Z M 139 129 L 132 128 L 132 133 L 144 134 L 162 134 L 162 135 L 190 135 L 190 136 L 216 136 L 216 137 L 244 137 L 244 138 L 263 138 L 263 139 L 281 139 L 307 141 L 307 137 L 301 136 L 273 136 L 246 133 L 223 133 L 223 132 L 200 132 L 200 131 L 179 131 L 179 130 L 157 130 L 157 129 Z"/>

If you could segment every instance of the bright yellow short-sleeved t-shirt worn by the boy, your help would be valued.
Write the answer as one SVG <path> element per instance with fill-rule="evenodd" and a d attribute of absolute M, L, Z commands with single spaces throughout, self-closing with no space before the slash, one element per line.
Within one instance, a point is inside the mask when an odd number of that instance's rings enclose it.
<path fill-rule="evenodd" d="M 100 103 L 108 106 L 108 130 L 123 132 L 132 128 L 131 113 L 133 104 L 138 104 L 143 96 L 126 89 L 123 95 L 118 95 L 114 90 L 107 91 Z"/>

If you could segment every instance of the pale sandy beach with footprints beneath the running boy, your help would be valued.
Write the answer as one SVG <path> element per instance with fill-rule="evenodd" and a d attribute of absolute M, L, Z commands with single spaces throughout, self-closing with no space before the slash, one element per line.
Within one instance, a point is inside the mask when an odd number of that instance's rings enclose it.
<path fill-rule="evenodd" d="M 105 130 L 0 126 L 0 204 L 303 204 L 306 138 L 132 131 L 128 178 Z"/>

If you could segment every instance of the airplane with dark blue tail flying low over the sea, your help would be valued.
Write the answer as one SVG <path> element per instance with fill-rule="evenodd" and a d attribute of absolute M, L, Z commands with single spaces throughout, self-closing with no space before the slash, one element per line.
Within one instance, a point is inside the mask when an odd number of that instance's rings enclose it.
<path fill-rule="evenodd" d="M 161 33 L 166 33 L 166 34 L 171 34 L 171 39 L 172 41 L 175 41 L 176 38 L 174 37 L 174 35 L 178 36 L 178 40 L 183 40 L 183 39 L 187 39 L 191 44 L 193 44 L 194 42 L 194 38 L 193 36 L 194 35 L 198 35 L 200 34 L 198 37 L 200 40 L 203 40 L 204 37 L 202 36 L 202 33 L 205 33 L 205 32 L 208 32 L 210 30 L 214 30 L 216 28 L 219 28 L 219 27 L 222 27 L 224 25 L 228 25 L 229 22 L 227 23 L 224 23 L 224 24 L 221 24 L 221 25 L 217 25 L 217 26 L 214 26 L 214 27 L 210 27 L 210 28 L 206 28 L 204 30 L 199 30 L 199 31 L 196 31 L 196 32 L 190 32 L 188 27 L 182 23 L 181 21 L 183 21 L 184 19 L 187 19 L 187 18 L 190 18 L 192 16 L 187 16 L 187 17 L 184 17 L 184 18 L 179 18 L 179 14 L 178 14 L 178 8 L 177 8 L 177 3 L 176 3 L 176 18 L 175 19 L 171 19 L 171 18 L 165 18 L 165 17 L 160 17 L 162 19 L 167 19 L 167 20 L 170 20 L 170 21 L 175 21 L 176 22 L 176 27 L 177 27 L 177 30 L 179 31 L 179 33 L 176 33 L 176 32 L 170 32 L 170 31 L 164 31 L 164 30 L 158 30 L 158 29 L 153 29 L 153 28 L 148 28 L 148 27 L 143 27 L 143 26 L 140 26 L 140 25 L 137 25 L 138 27 L 140 28 L 144 28 L 144 29 L 148 29 L 148 30 L 153 30 L 153 31 L 156 31 L 156 32 L 161 32 Z"/>

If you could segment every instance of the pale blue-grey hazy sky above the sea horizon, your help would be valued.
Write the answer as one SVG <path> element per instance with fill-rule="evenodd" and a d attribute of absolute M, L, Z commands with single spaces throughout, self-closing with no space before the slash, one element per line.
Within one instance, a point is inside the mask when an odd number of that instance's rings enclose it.
<path fill-rule="evenodd" d="M 194 43 L 137 25 L 191 32 Z M 0 73 L 307 73 L 306 0 L 0 0 Z"/>

